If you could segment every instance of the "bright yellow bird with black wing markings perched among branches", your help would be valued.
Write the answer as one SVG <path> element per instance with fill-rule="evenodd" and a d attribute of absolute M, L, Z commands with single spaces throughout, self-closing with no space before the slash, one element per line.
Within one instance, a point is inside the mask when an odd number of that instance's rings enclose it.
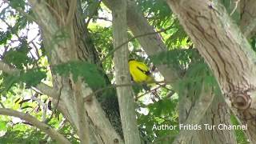
<path fill-rule="evenodd" d="M 129 70 L 132 80 L 137 83 L 143 83 L 142 86 L 144 90 L 150 91 L 150 84 L 155 82 L 152 74 L 150 73 L 150 68 L 143 62 L 130 59 Z M 152 91 L 151 93 L 154 94 L 155 97 L 159 98 L 156 91 Z"/>

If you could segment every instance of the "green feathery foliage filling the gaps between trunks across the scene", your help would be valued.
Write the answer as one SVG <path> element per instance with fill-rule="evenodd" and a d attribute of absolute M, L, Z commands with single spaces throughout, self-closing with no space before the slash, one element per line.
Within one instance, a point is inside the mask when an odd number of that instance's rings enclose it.
<path fill-rule="evenodd" d="M 3 1 L 0 1 L 2 3 Z M 102 73 L 106 73 L 110 82 L 114 83 L 113 65 L 113 38 L 110 18 L 110 10 L 98 2 L 82 1 L 85 19 L 89 22 L 88 29 L 94 45 L 101 58 L 103 69 L 88 62 L 67 62 L 59 66 L 50 66 L 47 61 L 40 30 L 32 22 L 33 14 L 26 1 L 3 2 L 0 5 L 0 54 L 1 61 L 15 68 L 17 74 L 10 75 L 0 73 L 0 102 L 2 106 L 31 114 L 39 120 L 46 121 L 54 113 L 51 108 L 51 99 L 34 90 L 38 82 L 52 85 L 51 72 L 62 76 L 72 74 L 74 80 L 79 77 L 92 88 L 106 86 Z M 174 140 L 178 130 L 152 130 L 154 125 L 178 125 L 178 97 L 181 97 L 185 89 L 195 96 L 200 95 L 202 84 L 216 87 L 214 92 L 219 94 L 218 84 L 205 62 L 198 54 L 190 38 L 186 36 L 177 19 L 170 15 L 172 12 L 164 1 L 138 0 L 138 7 L 142 10 L 155 30 L 167 29 L 162 32 L 162 39 L 169 51 L 166 53 L 148 57 L 136 40 L 129 42 L 130 58 L 136 58 L 146 62 L 149 66 L 154 64 L 166 64 L 174 66 L 182 79 L 174 83 L 178 91 L 173 93 L 174 86 L 154 86 L 160 99 L 153 98 L 151 94 L 144 94 L 142 86 L 134 85 L 137 95 L 136 101 L 138 126 L 147 141 L 162 143 L 163 139 Z M 97 9 L 95 9 L 95 6 Z M 95 10 L 95 13 L 90 11 Z M 23 12 L 21 12 L 23 11 Z M 25 13 L 25 14 L 23 14 Z M 106 17 L 106 18 L 105 18 Z M 132 34 L 129 35 L 133 37 Z M 65 38 L 65 37 L 62 37 Z M 58 38 L 56 42 L 58 43 Z M 256 50 L 255 38 L 251 44 Z M 52 70 L 52 71 L 50 71 Z M 162 80 L 158 70 L 152 71 L 157 79 Z M 25 85 L 26 83 L 26 85 Z M 109 89 L 106 87 L 106 90 Z M 232 122 L 236 123 L 235 118 Z M 62 114 L 54 113 L 54 117 L 48 122 L 50 126 L 58 129 L 61 134 L 73 143 L 78 143 L 76 131 L 66 122 Z M 236 131 L 237 141 L 246 142 L 241 130 Z M 52 142 L 50 138 L 18 118 L 0 116 L 0 143 L 41 143 Z"/>

